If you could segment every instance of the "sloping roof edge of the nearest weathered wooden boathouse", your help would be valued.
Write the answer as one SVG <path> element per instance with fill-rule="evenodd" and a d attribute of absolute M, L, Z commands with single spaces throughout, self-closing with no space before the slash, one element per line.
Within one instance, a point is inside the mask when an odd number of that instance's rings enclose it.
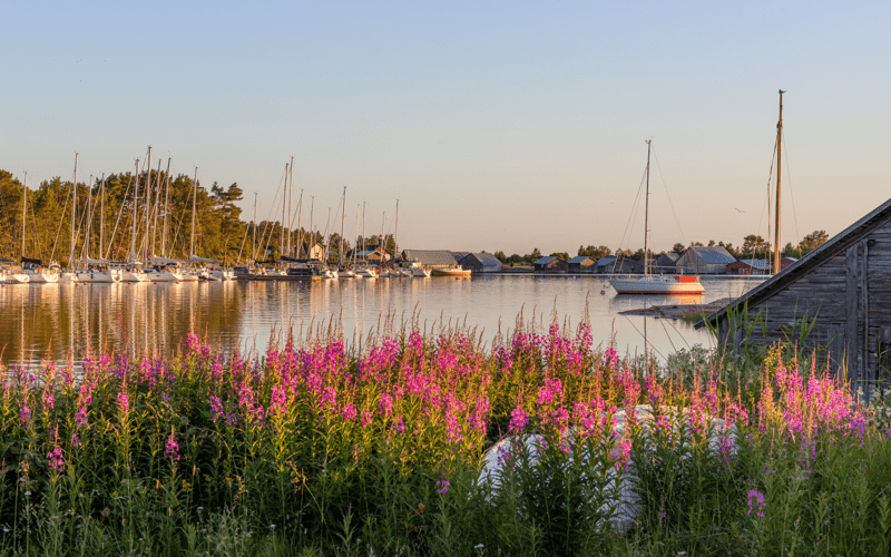
<path fill-rule="evenodd" d="M 738 306 L 745 303 L 755 304 L 767 300 L 773 294 L 784 290 L 800 277 L 810 273 L 814 267 L 834 257 L 839 252 L 850 247 L 859 237 L 869 234 L 874 227 L 880 226 L 889 218 L 891 218 L 891 199 L 888 199 L 872 209 L 863 218 L 840 232 L 813 252 L 807 253 L 802 258 L 756 285 L 744 295 L 737 297 L 712 315 L 708 315 L 705 320 L 696 324 L 696 329 L 705 326 L 706 321 L 715 323 L 731 306 Z"/>

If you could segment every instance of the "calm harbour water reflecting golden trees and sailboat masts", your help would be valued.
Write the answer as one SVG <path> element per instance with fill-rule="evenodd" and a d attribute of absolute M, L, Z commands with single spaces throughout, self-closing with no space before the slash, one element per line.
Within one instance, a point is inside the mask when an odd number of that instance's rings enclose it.
<path fill-rule="evenodd" d="M 643 350 L 646 334 L 652 349 L 668 354 L 711 345 L 712 339 L 682 321 L 618 312 L 735 297 L 757 281 L 704 277 L 705 295 L 672 299 L 618 296 L 596 276 L 6 285 L 0 287 L 0 349 L 7 364 L 62 362 L 69 354 L 77 361 L 90 350 L 167 354 L 195 332 L 227 352 L 264 351 L 271 338 L 288 330 L 306 335 L 333 325 L 358 342 L 369 331 L 412 322 L 428 331 L 474 328 L 491 342 L 499 330 L 516 329 L 520 315 L 544 326 L 556 315 L 575 326 L 587 305 L 595 343 L 615 335 L 618 348 L 634 353 Z"/>

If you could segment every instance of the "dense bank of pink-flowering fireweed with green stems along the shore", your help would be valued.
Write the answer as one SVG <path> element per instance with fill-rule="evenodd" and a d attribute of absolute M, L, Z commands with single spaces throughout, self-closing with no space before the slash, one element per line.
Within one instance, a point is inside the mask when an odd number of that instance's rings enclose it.
<path fill-rule="evenodd" d="M 794 346 L 728 362 L 582 323 L 13 369 L 0 553 L 889 555 L 887 420 Z"/>

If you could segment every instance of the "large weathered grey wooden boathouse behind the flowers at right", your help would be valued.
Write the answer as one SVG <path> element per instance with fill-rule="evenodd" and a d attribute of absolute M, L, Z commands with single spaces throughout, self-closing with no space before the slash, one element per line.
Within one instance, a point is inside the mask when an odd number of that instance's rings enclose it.
<path fill-rule="evenodd" d="M 746 319 L 748 342 L 829 349 L 834 371 L 869 399 L 891 379 L 891 199 L 706 321 L 738 350 Z"/>

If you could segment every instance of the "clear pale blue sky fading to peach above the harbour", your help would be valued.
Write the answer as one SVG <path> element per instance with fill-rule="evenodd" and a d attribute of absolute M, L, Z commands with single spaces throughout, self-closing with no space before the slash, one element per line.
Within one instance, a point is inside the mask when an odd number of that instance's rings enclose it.
<path fill-rule="evenodd" d="M 891 2 L 7 2 L 0 169 L 153 167 L 410 248 L 781 243 L 891 196 Z M 385 221 L 382 223 L 385 213 Z M 321 223 L 321 224 L 320 224 Z M 361 228 L 360 223 L 360 228 Z M 336 231 L 340 223 L 332 225 Z M 361 232 L 361 231 L 360 231 Z"/>

